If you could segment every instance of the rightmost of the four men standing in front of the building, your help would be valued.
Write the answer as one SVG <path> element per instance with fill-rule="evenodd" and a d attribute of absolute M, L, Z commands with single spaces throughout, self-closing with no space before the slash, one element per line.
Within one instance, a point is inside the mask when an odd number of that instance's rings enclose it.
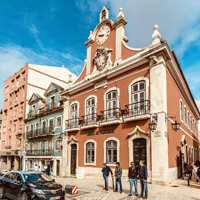
<path fill-rule="evenodd" d="M 139 169 L 139 176 L 140 177 L 140 185 L 141 185 L 141 194 L 138 197 L 142 197 L 143 199 L 147 199 L 148 196 L 148 189 L 147 189 L 147 167 L 144 164 L 144 161 L 140 161 L 140 169 Z M 145 197 L 143 197 L 143 193 L 145 190 Z"/>

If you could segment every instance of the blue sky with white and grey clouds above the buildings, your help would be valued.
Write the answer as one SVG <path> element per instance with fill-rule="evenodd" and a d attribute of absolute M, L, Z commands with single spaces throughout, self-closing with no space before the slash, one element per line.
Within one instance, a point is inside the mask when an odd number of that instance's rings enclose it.
<path fill-rule="evenodd" d="M 124 3 L 125 2 L 125 3 Z M 89 32 L 103 5 L 110 19 L 124 9 L 129 46 L 152 42 L 153 26 L 175 51 L 200 107 L 200 1 L 179 0 L 0 0 L 0 109 L 4 80 L 26 62 L 64 65 L 79 75 Z"/>

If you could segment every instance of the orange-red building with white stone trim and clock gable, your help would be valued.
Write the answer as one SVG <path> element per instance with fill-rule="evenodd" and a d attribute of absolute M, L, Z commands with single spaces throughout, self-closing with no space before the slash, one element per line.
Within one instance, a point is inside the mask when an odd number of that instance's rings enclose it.
<path fill-rule="evenodd" d="M 83 71 L 61 92 L 61 175 L 102 178 L 102 164 L 113 169 L 119 161 L 127 179 L 130 162 L 138 167 L 144 160 L 148 181 L 166 184 L 177 178 L 180 157 L 191 163 L 197 159 L 200 113 L 175 53 L 160 40 L 158 26 L 150 46 L 132 48 L 122 8 L 117 17 L 113 22 L 109 9 L 102 9 L 85 43 Z M 177 123 L 180 129 L 175 130 Z"/>

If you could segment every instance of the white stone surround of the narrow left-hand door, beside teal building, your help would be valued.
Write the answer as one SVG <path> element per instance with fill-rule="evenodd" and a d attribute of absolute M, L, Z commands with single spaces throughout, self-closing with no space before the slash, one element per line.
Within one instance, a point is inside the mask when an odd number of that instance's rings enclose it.
<path fill-rule="evenodd" d="M 77 145 L 77 152 L 76 152 L 76 169 L 78 168 L 78 151 L 79 151 L 79 143 L 78 140 L 71 135 L 70 139 L 68 140 L 68 175 L 71 175 L 71 146 L 72 144 Z"/>

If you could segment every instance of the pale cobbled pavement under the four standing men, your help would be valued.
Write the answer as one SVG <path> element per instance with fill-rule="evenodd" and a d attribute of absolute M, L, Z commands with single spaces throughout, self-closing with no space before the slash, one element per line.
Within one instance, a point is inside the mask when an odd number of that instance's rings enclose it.
<path fill-rule="evenodd" d="M 103 190 L 104 181 L 102 180 L 78 180 L 75 178 L 55 178 L 56 182 L 65 185 L 76 185 L 79 190 L 88 192 L 87 194 L 66 198 L 73 200 L 129 200 L 140 199 L 135 196 L 129 197 L 129 182 L 123 181 L 123 193 L 113 192 L 112 180 L 109 178 L 109 190 Z M 148 184 L 148 199 L 151 200 L 200 200 L 200 183 L 190 182 L 187 186 L 186 180 L 175 180 L 167 186 Z M 133 187 L 134 191 L 134 187 Z M 138 191 L 140 183 L 138 181 Z"/>

